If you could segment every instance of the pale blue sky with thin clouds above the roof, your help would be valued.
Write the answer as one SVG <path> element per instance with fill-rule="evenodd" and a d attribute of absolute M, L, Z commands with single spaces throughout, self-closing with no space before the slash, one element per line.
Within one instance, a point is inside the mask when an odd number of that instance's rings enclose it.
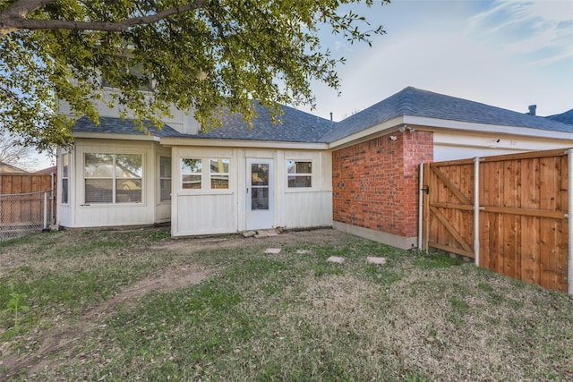
<path fill-rule="evenodd" d="M 372 47 L 325 31 L 324 47 L 344 56 L 341 96 L 313 83 L 317 106 L 335 121 L 413 86 L 537 115 L 573 108 L 573 0 L 393 0 L 352 4 L 386 34 Z"/>

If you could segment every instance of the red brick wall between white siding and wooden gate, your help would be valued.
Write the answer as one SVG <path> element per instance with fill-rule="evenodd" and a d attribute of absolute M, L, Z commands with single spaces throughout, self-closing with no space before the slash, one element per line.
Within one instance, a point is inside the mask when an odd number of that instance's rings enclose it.
<path fill-rule="evenodd" d="M 334 220 L 415 237 L 418 166 L 433 161 L 432 142 L 432 132 L 395 132 L 335 151 Z"/>

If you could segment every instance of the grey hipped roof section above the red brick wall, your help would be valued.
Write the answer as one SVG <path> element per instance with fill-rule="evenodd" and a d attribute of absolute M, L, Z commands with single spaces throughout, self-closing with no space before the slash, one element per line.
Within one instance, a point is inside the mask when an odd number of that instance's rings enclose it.
<path fill-rule="evenodd" d="M 467 99 L 408 87 L 337 123 L 335 129 L 327 132 L 321 138 L 321 141 L 333 142 L 340 140 L 355 132 L 363 131 L 402 115 L 468 123 L 529 127 L 554 132 L 573 132 L 571 126 L 543 117 L 524 115 L 500 107 L 468 101 Z"/>

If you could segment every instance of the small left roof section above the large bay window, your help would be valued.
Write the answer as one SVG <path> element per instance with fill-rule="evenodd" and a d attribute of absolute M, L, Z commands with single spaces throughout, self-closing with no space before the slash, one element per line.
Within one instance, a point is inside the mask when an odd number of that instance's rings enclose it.
<path fill-rule="evenodd" d="M 158 128 L 150 121 L 144 121 L 143 125 L 150 132 L 150 135 L 155 137 L 178 137 L 181 135 L 167 124 L 164 124 L 161 130 L 158 130 Z M 137 128 L 137 125 L 133 123 L 133 120 L 111 116 L 100 116 L 99 124 L 93 123 L 87 116 L 82 116 L 76 121 L 75 126 L 73 126 L 73 132 L 146 135 L 145 132 L 142 132 Z"/>

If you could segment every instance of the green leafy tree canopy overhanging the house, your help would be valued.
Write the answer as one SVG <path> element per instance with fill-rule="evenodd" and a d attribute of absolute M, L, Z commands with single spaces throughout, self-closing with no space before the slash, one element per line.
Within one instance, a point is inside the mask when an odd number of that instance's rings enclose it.
<path fill-rule="evenodd" d="M 93 101 L 103 100 L 159 126 L 174 105 L 205 129 L 222 107 L 251 121 L 253 100 L 274 116 L 278 104 L 312 105 L 311 82 L 339 89 L 344 62 L 321 46 L 321 30 L 367 44 L 384 33 L 339 10 L 360 2 L 0 0 L 0 129 L 47 149 L 73 140 L 60 101 L 96 123 Z"/>

